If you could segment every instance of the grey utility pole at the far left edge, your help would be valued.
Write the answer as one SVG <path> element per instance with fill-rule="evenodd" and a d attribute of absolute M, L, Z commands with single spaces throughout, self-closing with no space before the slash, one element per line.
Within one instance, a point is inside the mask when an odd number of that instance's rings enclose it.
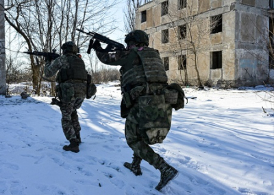
<path fill-rule="evenodd" d="M 5 79 L 5 12 L 4 0 L 0 0 L 0 95 L 6 94 Z"/>

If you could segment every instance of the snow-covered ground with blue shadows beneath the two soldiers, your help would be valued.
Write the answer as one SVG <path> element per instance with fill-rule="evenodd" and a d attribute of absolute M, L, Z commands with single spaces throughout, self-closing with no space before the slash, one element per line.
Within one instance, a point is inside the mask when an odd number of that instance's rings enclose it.
<path fill-rule="evenodd" d="M 173 110 L 164 143 L 151 146 L 179 171 L 158 192 L 159 170 L 142 161 L 135 176 L 123 167 L 132 150 L 116 84 L 98 84 L 78 110 L 78 153 L 62 150 L 69 141 L 50 97 L 0 96 L 0 194 L 274 194 L 273 104 L 261 98 L 268 87 L 184 88 L 188 104 Z"/>

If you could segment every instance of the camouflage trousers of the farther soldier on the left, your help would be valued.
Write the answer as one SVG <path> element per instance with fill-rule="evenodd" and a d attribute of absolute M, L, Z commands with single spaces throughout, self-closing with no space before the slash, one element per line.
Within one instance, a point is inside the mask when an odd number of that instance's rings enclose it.
<path fill-rule="evenodd" d="M 77 115 L 77 109 L 82 106 L 84 98 L 73 98 L 70 104 L 62 103 L 60 111 L 62 113 L 62 128 L 66 139 L 76 139 L 76 134 L 80 132 L 81 126 Z"/>

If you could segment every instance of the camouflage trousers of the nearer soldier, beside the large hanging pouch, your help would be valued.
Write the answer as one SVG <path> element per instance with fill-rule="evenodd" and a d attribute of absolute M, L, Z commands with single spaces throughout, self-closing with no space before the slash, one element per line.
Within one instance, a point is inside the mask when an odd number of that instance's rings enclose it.
<path fill-rule="evenodd" d="M 135 104 L 129 111 L 129 115 L 125 120 L 125 138 L 127 145 L 132 148 L 134 155 L 144 159 L 149 164 L 153 165 L 155 169 L 159 168 L 163 159 L 159 154 L 155 153 L 154 150 L 145 143 L 140 135 L 139 130 L 139 106 Z"/>

